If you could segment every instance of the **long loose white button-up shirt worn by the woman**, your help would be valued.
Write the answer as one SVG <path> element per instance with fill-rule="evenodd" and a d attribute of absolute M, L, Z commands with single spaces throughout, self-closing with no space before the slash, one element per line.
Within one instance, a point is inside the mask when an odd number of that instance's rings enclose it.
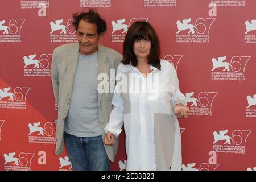
<path fill-rule="evenodd" d="M 156 141 L 155 126 L 162 122 L 160 121 L 162 119 L 159 118 L 166 118 L 166 115 L 169 118 L 170 115 L 174 118 L 171 120 L 170 117 L 170 122 L 174 123 L 175 140 L 174 143 L 164 144 L 174 146 L 173 153 L 171 152 L 170 169 L 181 169 L 180 129 L 173 106 L 178 103 L 186 105 L 184 95 L 179 90 L 177 73 L 171 63 L 161 60 L 160 70 L 152 65 L 150 69 L 152 72 L 144 77 L 132 65 L 119 65 L 117 81 L 121 77 L 125 78 L 124 75 L 126 75 L 127 84 L 120 81 L 115 86 L 112 100 L 113 110 L 110 113 L 105 132 L 109 131 L 118 136 L 124 123 L 127 170 L 161 169 L 158 167 L 158 159 L 156 159 L 158 149 L 155 142 L 158 144 L 159 141 Z M 121 82 L 122 86 L 120 86 Z M 126 90 L 126 85 L 129 92 L 123 93 Z M 160 158 L 164 158 L 164 156 L 160 156 Z M 167 168 L 169 169 L 169 166 Z"/>

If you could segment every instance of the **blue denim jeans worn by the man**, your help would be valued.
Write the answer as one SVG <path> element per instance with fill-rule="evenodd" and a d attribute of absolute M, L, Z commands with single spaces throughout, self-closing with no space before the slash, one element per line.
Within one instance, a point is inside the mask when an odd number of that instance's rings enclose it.
<path fill-rule="evenodd" d="M 109 171 L 102 136 L 76 137 L 64 132 L 64 140 L 74 171 Z"/>

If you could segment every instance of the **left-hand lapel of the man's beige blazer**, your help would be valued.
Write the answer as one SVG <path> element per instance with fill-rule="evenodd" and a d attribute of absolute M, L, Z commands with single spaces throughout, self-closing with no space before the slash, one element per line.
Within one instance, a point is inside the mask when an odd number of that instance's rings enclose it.
<path fill-rule="evenodd" d="M 79 58 L 79 44 L 76 43 L 70 51 L 69 56 L 67 57 L 67 83 L 68 83 L 68 95 L 69 100 L 72 97 L 73 81 L 76 72 L 77 60 Z"/>

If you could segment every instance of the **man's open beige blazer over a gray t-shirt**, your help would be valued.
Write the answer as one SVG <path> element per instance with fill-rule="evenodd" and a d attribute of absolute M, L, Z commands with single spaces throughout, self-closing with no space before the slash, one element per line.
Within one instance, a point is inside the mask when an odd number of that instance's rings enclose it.
<path fill-rule="evenodd" d="M 64 149 L 64 122 L 71 103 L 73 79 L 78 57 L 78 43 L 69 43 L 59 46 L 54 49 L 52 55 L 52 86 L 58 105 L 58 117 L 55 121 L 57 138 L 56 155 L 60 155 Z M 98 44 L 98 74 L 105 73 L 108 75 L 107 80 L 98 80 L 98 85 L 100 84 L 104 89 L 109 88 L 110 91 L 110 85 L 115 85 L 115 76 L 112 74 L 112 77 L 110 77 L 110 69 L 114 69 L 115 73 L 121 60 L 122 55 L 117 51 Z M 105 137 L 104 127 L 109 122 L 109 114 L 113 107 L 111 104 L 112 97 L 113 93 L 98 93 L 98 118 L 100 119 L 102 139 Z M 109 160 L 114 162 L 115 154 L 118 149 L 118 138 L 114 146 L 105 146 L 105 149 Z"/>

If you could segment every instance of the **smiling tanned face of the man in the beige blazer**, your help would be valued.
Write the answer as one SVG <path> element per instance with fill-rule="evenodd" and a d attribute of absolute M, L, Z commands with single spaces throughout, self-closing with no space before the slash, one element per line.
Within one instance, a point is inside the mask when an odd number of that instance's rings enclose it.
<path fill-rule="evenodd" d="M 98 35 L 96 24 L 80 20 L 77 27 L 77 41 L 82 55 L 92 55 L 98 51 L 98 42 L 102 35 Z"/>

